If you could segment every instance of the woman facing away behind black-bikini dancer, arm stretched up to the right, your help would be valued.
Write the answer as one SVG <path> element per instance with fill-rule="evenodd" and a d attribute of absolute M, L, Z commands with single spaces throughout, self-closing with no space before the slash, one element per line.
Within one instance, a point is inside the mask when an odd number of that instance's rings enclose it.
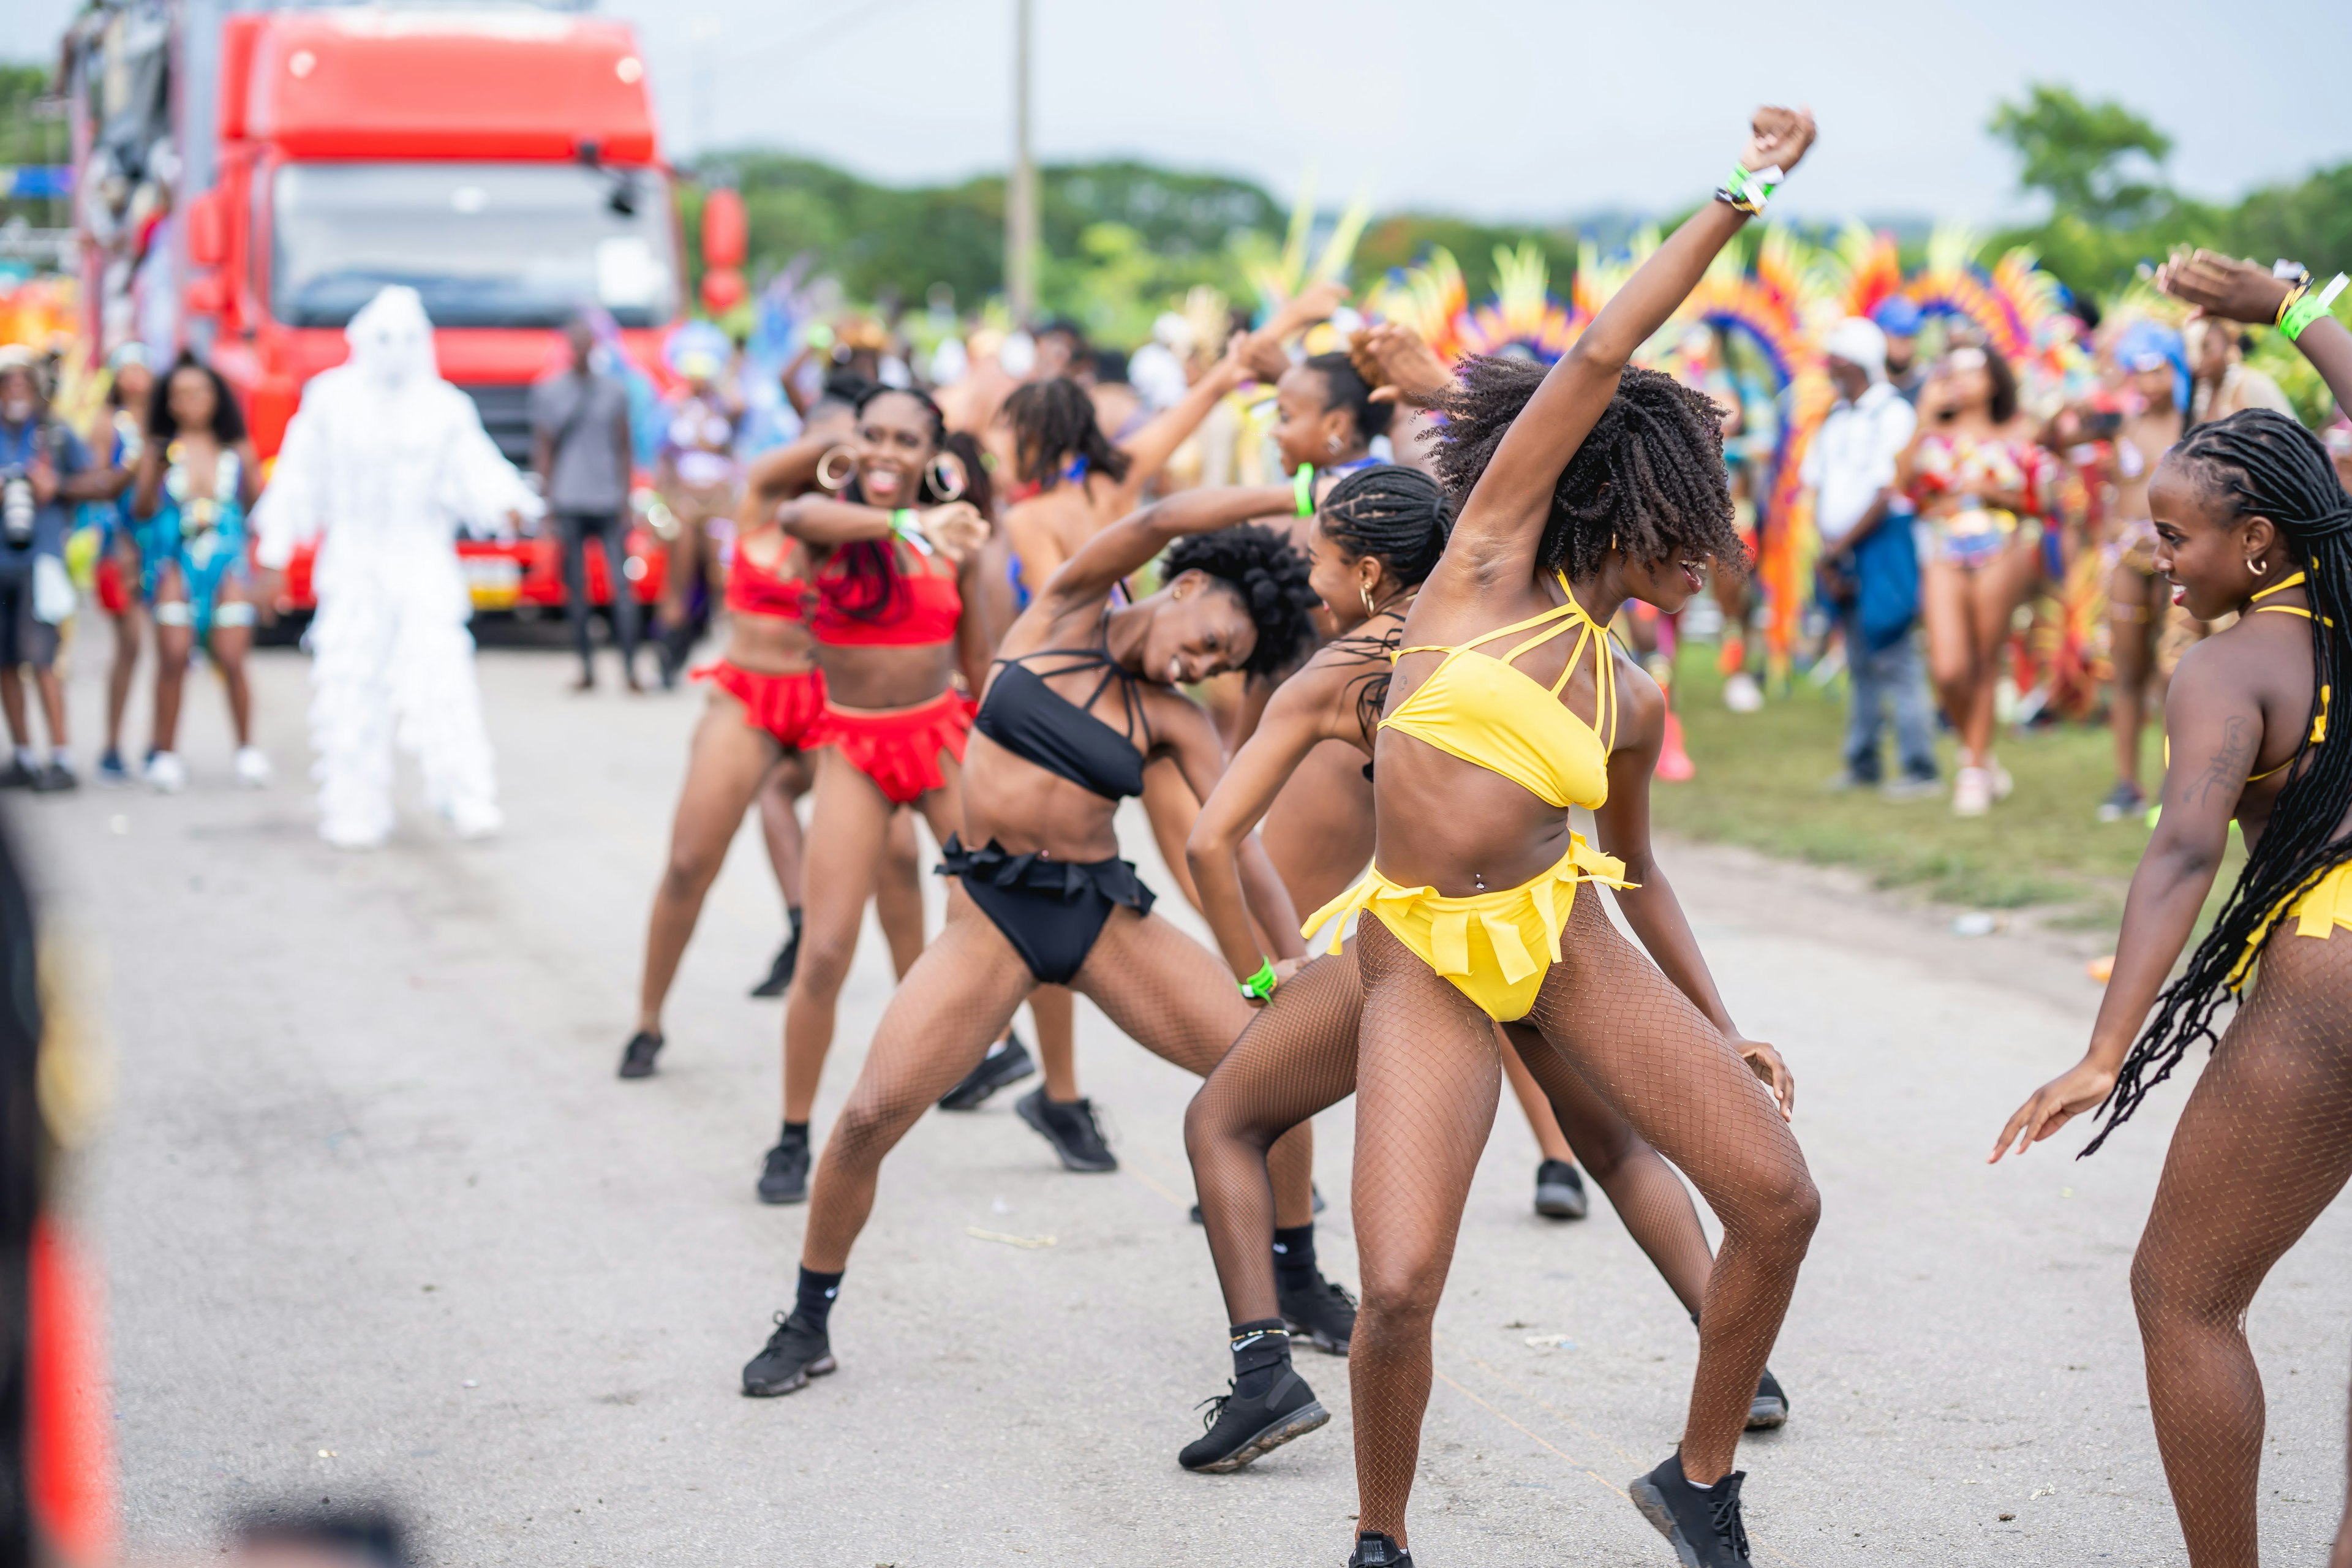
<path fill-rule="evenodd" d="M 1192 430 L 1247 376 L 1242 357 L 1228 353 L 1167 409 L 1127 442 L 1112 444 L 1096 418 L 1087 388 L 1068 376 L 1028 381 L 1004 400 L 1000 421 L 1011 437 L 1011 505 L 1004 510 L 1007 574 L 1014 614 L 1030 604 L 1033 583 L 1044 583 L 1080 545 L 1136 510 L 1143 487 L 1167 468 Z M 1171 769 L 1152 769 L 1143 783 L 1143 809 L 1152 818 L 1162 856 L 1192 827 L 1200 802 Z M 1077 1093 L 1077 1020 L 1070 992 L 1040 985 L 1030 992 L 1037 1020 L 1037 1056 L 1044 1084 L 1021 1098 L 1018 1112 L 1054 1145 L 1070 1171 L 1117 1171 L 1103 1143 L 1094 1105 Z M 962 1084 L 941 1098 L 941 1110 L 974 1110 L 997 1088 L 1035 1072 L 1018 1039 L 1007 1037 Z"/>

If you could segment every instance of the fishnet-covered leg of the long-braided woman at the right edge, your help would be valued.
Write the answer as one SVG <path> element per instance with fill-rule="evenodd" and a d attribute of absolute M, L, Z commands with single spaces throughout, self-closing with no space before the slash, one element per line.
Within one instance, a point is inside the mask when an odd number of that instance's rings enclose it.
<path fill-rule="evenodd" d="M 2180 1114 L 2131 1300 L 2194 1568 L 2253 1568 L 2263 1378 L 2246 1307 L 2352 1175 L 2352 940 L 2286 931 Z M 2340 1552 L 2340 1556 L 2345 1556 Z"/>

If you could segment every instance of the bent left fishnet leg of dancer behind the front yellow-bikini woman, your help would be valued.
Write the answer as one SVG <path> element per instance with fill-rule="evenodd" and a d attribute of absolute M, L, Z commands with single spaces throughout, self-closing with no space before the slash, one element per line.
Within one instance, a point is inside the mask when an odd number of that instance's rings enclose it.
<path fill-rule="evenodd" d="M 1355 950 L 1315 959 L 1249 1020 L 1185 1110 L 1183 1143 L 1228 1324 L 1279 1316 L 1268 1150 L 1355 1093 L 1362 1016 Z"/>

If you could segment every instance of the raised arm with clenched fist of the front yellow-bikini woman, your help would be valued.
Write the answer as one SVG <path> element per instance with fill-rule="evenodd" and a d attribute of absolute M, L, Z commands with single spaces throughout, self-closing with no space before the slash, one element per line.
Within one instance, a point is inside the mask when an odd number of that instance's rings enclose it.
<path fill-rule="evenodd" d="M 1740 167 L 1788 172 L 1811 143 L 1811 113 L 1759 108 Z M 1463 503 L 1439 571 L 1470 571 L 1477 583 L 1515 583 L 1534 574 L 1559 470 L 1592 435 L 1635 350 L 1682 308 L 1708 263 L 1743 223 L 1743 209 L 1708 202 L 1592 317 L 1503 433 L 1486 473 Z"/>

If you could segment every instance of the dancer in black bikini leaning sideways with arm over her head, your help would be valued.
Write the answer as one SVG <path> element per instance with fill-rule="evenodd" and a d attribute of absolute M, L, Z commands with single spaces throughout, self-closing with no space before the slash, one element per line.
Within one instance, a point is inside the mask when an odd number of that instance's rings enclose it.
<path fill-rule="evenodd" d="M 1200 1074 L 1249 1023 L 1216 957 L 1150 912 L 1112 816 L 1155 757 L 1174 757 L 1197 795 L 1216 788 L 1225 748 L 1178 686 L 1272 670 L 1305 646 L 1305 562 L 1247 524 L 1287 505 L 1282 487 L 1157 501 L 1089 538 L 1004 635 L 974 719 L 964 830 L 943 837 L 948 924 L 884 1009 L 826 1140 L 797 1300 L 743 1368 L 746 1394 L 790 1394 L 833 1371 L 828 1319 L 882 1157 L 1037 985 L 1091 997 L 1145 1051 Z M 1164 585 L 1117 602 L 1162 550 Z M 1268 931 L 1296 922 L 1263 853 L 1249 856 L 1249 889 Z M 1305 1135 L 1272 1152 L 1284 1215 L 1312 1211 L 1310 1164 Z"/>

